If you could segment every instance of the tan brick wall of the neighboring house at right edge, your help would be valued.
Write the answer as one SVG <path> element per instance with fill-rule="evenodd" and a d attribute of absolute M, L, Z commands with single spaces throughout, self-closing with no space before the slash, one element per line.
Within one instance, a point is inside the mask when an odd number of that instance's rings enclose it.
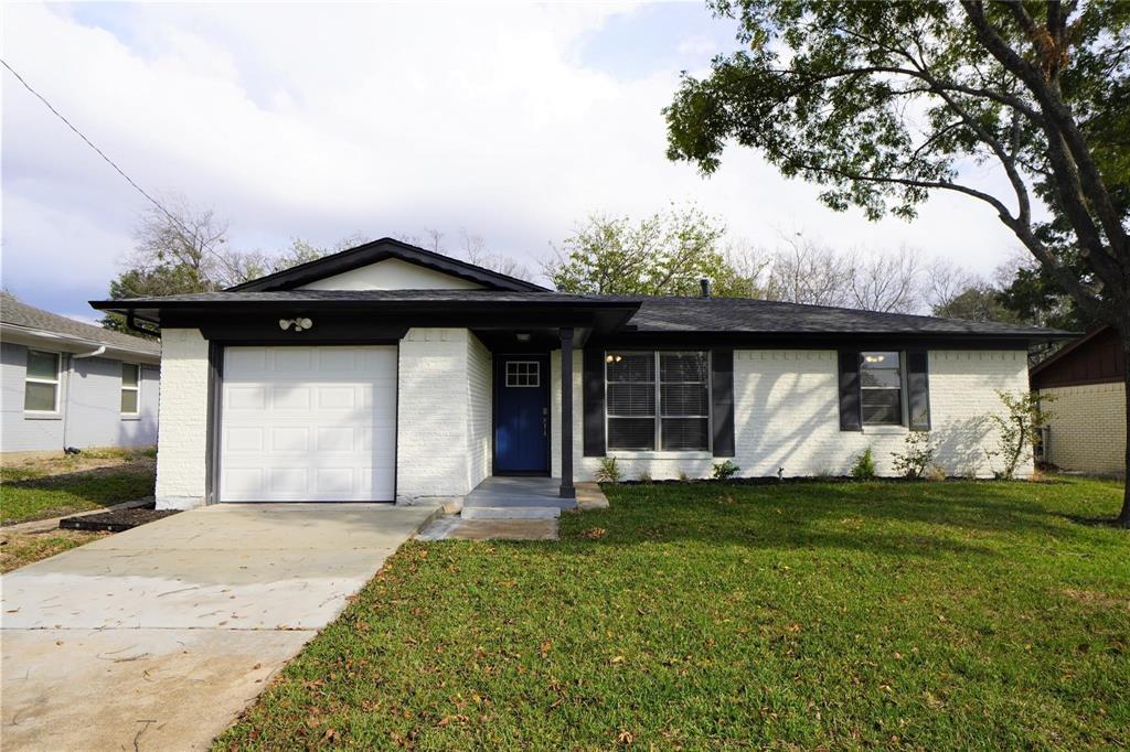
<path fill-rule="evenodd" d="M 1127 395 L 1120 382 L 1041 390 L 1053 395 L 1048 460 L 1063 470 L 1110 473 L 1124 470 Z"/>

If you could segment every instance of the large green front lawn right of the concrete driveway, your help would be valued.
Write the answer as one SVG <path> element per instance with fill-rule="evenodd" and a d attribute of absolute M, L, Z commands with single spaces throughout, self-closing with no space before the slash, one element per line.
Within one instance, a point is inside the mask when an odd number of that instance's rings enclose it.
<path fill-rule="evenodd" d="M 1120 484 L 607 492 L 407 544 L 217 747 L 1130 745 Z"/>

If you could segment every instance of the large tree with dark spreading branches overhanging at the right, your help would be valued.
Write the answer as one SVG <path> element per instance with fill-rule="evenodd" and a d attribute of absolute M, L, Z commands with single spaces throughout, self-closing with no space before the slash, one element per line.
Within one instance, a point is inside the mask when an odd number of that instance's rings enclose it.
<path fill-rule="evenodd" d="M 746 49 L 684 76 L 664 110 L 672 159 L 711 173 L 736 141 L 871 219 L 911 218 L 937 192 L 977 200 L 1130 358 L 1130 3 L 714 8 Z M 984 165 L 1007 187 L 972 180 Z M 1118 522 L 1130 527 L 1130 487 Z"/>

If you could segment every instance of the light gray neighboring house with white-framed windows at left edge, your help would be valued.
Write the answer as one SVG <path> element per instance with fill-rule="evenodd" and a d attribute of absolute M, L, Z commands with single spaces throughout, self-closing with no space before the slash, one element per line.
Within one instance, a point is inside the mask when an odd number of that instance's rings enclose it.
<path fill-rule="evenodd" d="M 157 443 L 160 346 L 0 299 L 0 451 Z"/>

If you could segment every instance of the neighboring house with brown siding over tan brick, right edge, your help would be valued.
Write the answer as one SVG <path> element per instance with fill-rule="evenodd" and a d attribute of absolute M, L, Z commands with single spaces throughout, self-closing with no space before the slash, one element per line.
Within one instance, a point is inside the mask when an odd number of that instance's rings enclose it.
<path fill-rule="evenodd" d="M 1032 390 L 1052 413 L 1043 458 L 1062 470 L 1125 470 L 1125 357 L 1113 326 L 1071 342 L 1032 369 Z"/>

